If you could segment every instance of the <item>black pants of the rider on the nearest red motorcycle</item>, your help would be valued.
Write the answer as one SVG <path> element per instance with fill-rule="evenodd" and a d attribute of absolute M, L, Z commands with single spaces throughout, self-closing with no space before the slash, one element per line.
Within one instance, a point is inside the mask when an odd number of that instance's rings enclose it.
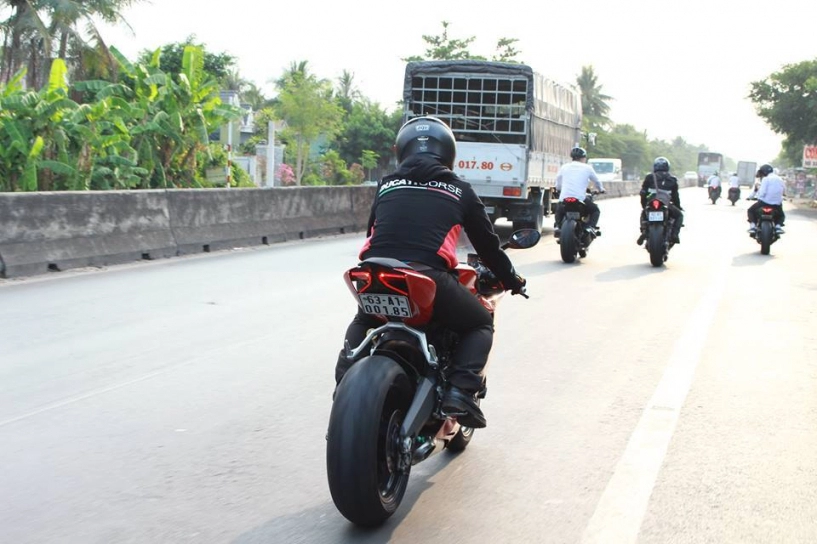
<path fill-rule="evenodd" d="M 436 269 L 423 270 L 422 273 L 437 284 L 432 319 L 460 335 L 448 379 L 460 389 L 477 393 L 483 386 L 483 371 L 493 344 L 493 317 L 477 297 L 457 281 L 453 273 Z M 357 315 L 346 329 L 346 340 L 355 348 L 366 338 L 369 329 L 382 324 L 381 320 L 358 308 Z M 352 364 L 353 361 L 348 361 L 341 351 L 335 367 L 337 383 Z"/>

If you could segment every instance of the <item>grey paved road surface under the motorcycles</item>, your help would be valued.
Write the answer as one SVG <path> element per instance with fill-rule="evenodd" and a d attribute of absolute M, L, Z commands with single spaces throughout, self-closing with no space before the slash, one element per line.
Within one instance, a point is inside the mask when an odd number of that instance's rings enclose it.
<path fill-rule="evenodd" d="M 512 255 L 489 426 L 375 531 L 324 460 L 360 235 L 3 282 L 0 542 L 817 542 L 817 223 L 763 257 L 682 198 L 665 268 L 634 198 L 578 264 Z"/>

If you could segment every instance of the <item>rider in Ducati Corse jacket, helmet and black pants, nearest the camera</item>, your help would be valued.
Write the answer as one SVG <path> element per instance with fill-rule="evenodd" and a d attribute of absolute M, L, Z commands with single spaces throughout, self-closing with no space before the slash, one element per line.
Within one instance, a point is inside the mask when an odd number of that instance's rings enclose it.
<path fill-rule="evenodd" d="M 525 280 L 500 248 L 482 201 L 452 171 L 456 141 L 443 121 L 429 116 L 410 119 L 397 133 L 395 151 L 399 167 L 378 183 L 360 258 L 398 259 L 435 281 L 433 318 L 460 335 L 443 411 L 460 414 L 458 420 L 466 427 L 484 427 L 477 395 L 484 387 L 482 371 L 493 343 L 493 318 L 454 272 L 460 232 L 465 231 L 507 290 L 523 293 Z M 380 324 L 358 308 L 346 341 L 357 346 L 368 329 Z M 337 383 L 353 363 L 341 350 L 335 367 Z"/>

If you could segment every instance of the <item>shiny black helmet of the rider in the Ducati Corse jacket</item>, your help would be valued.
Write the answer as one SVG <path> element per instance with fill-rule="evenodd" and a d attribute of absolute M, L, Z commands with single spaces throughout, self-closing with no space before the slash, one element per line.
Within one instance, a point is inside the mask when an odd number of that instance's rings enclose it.
<path fill-rule="evenodd" d="M 448 168 L 454 168 L 454 157 L 457 155 L 454 133 L 436 117 L 414 117 L 406 121 L 397 131 L 394 147 L 397 162 L 426 153 Z"/>

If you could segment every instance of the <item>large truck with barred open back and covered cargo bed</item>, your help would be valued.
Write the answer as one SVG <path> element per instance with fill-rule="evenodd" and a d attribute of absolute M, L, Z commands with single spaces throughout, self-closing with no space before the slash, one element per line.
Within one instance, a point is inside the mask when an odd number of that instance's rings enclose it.
<path fill-rule="evenodd" d="M 581 138 L 581 96 L 524 64 L 478 60 L 406 65 L 403 120 L 433 115 L 457 138 L 454 171 L 492 220 L 541 230 L 559 167 Z"/>

